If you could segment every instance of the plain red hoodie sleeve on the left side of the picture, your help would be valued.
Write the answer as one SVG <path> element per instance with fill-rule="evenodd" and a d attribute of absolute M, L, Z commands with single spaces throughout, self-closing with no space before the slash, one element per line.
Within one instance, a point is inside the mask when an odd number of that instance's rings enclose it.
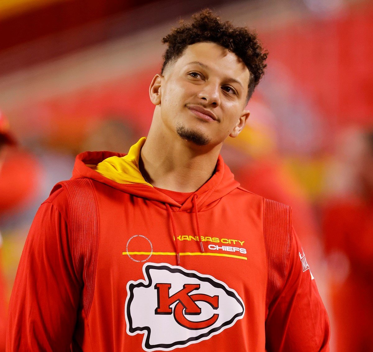
<path fill-rule="evenodd" d="M 7 351 L 70 351 L 81 289 L 66 218 L 46 201 L 35 215 L 19 262 Z"/>

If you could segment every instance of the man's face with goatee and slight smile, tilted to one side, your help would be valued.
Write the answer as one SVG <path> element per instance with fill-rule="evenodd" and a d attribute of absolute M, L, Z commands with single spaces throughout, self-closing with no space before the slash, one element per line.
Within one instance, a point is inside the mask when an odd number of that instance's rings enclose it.
<path fill-rule="evenodd" d="M 189 45 L 160 77 L 163 124 L 196 145 L 216 146 L 236 137 L 245 111 L 250 73 L 233 53 L 211 42 Z"/>

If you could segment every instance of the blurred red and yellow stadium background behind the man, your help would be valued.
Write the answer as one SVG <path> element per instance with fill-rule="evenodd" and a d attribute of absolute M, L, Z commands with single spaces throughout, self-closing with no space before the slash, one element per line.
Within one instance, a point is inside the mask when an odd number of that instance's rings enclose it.
<path fill-rule="evenodd" d="M 358 0 L 1 0 L 0 345 L 38 206 L 77 153 L 147 135 L 161 38 L 205 7 L 269 50 L 222 155 L 243 187 L 292 206 L 332 351 L 373 351 L 373 3 Z"/>

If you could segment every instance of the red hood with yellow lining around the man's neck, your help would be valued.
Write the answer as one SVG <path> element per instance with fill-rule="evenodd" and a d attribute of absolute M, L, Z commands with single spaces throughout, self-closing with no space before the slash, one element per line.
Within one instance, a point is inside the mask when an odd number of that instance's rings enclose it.
<path fill-rule="evenodd" d="M 222 156 L 219 155 L 213 176 L 195 191 L 183 205 L 180 205 L 144 180 L 138 161 L 145 140 L 146 137 L 142 137 L 129 149 L 128 154 L 106 151 L 79 154 L 76 156 L 72 178 L 91 178 L 120 191 L 166 203 L 171 207 L 178 207 L 178 211 L 186 212 L 192 211 L 194 206 L 192 198 L 196 194 L 195 200 L 198 211 L 202 211 L 239 186 L 239 183 L 234 180 L 232 172 L 224 163 Z"/>

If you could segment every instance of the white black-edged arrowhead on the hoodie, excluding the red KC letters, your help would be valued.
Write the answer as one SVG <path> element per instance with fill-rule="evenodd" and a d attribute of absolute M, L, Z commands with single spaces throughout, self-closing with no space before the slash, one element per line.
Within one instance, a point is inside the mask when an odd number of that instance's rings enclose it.
<path fill-rule="evenodd" d="M 241 297 L 213 276 L 167 263 L 146 263 L 142 271 L 145 280 L 127 283 L 125 316 L 129 335 L 144 334 L 142 348 L 145 351 L 171 351 L 210 339 L 244 317 L 245 306 Z M 185 284 L 199 285 L 199 288 L 189 295 L 218 296 L 218 308 L 213 308 L 205 301 L 196 300 L 195 304 L 201 309 L 200 314 L 185 315 L 185 309 L 183 310 L 184 317 L 192 322 L 209 320 L 214 314 L 218 314 L 217 320 L 206 328 L 186 328 L 175 318 L 174 308 L 179 301 L 170 305 L 173 314 L 156 314 L 159 302 L 155 285 L 160 283 L 171 285 L 170 297 L 181 291 Z"/>

